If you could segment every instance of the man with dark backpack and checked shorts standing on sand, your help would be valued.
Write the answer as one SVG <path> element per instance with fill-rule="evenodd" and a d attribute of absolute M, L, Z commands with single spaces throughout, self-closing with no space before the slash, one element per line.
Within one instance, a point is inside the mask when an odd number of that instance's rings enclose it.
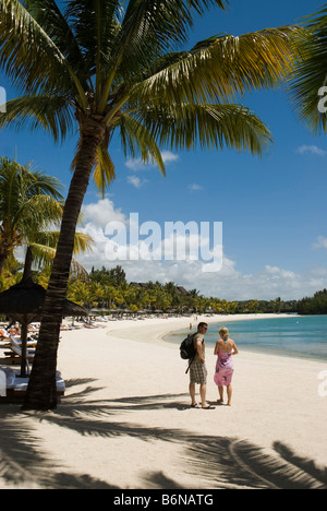
<path fill-rule="evenodd" d="M 204 336 L 207 333 L 208 325 L 207 323 L 201 322 L 197 325 L 197 332 L 193 337 L 194 348 L 196 349 L 196 355 L 191 364 L 190 368 L 190 395 L 191 395 L 191 406 L 193 408 L 197 407 L 195 400 L 195 384 L 199 384 L 199 396 L 201 405 L 204 409 L 213 409 L 214 406 L 209 406 L 206 402 L 207 393 L 207 368 L 205 364 L 205 342 Z"/>

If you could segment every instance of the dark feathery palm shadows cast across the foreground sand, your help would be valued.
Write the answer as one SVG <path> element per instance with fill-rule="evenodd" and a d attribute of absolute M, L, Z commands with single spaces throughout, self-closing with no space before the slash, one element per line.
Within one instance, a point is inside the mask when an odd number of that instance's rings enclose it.
<path fill-rule="evenodd" d="M 68 387 L 94 383 L 74 380 Z M 251 489 L 327 489 L 327 468 L 294 453 L 288 445 L 275 442 L 263 449 L 235 438 L 197 436 L 185 429 L 152 428 L 132 421 L 117 421 L 117 416 L 133 411 L 178 408 L 181 394 L 132 396 L 113 401 L 90 401 L 97 389 L 86 387 L 64 399 L 57 411 L 48 414 L 22 414 L 19 405 L 0 406 L 0 477 L 9 486 L 51 489 L 119 489 L 87 473 L 62 471 L 62 463 L 49 459 L 34 432 L 33 421 L 56 424 L 81 436 L 104 438 L 135 437 L 149 442 L 159 440 L 182 447 L 183 466 L 196 473 L 205 488 Z M 184 396 L 184 394 L 182 394 Z M 60 453 L 58 453 L 58 460 Z M 87 466 L 87 464 L 86 464 Z M 110 474 L 110 460 L 108 460 Z M 142 475 L 143 489 L 186 489 L 179 480 L 161 471 Z M 135 488 L 141 489 L 141 488 Z"/>

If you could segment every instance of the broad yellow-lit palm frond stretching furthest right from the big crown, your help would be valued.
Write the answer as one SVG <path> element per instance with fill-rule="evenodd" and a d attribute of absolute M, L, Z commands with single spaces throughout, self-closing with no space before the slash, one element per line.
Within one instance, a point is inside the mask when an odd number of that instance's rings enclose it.
<path fill-rule="evenodd" d="M 210 37 L 177 62 L 132 88 L 140 102 L 227 102 L 250 90 L 271 87 L 291 70 L 293 27 L 240 37 Z"/>

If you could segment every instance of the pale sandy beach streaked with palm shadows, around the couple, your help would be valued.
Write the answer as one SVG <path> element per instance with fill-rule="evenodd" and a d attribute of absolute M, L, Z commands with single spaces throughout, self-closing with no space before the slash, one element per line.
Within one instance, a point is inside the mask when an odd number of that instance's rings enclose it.
<path fill-rule="evenodd" d="M 0 406 L 0 488 L 327 488 L 326 363 L 239 344 L 232 407 L 190 408 L 186 364 L 162 340 L 189 324 L 157 318 L 63 332 L 58 409 Z M 211 404 L 215 358 L 207 349 Z"/>

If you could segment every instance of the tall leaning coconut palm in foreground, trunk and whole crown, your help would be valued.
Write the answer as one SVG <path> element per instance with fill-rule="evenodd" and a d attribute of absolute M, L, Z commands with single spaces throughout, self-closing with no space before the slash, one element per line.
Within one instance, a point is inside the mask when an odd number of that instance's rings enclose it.
<path fill-rule="evenodd" d="M 215 36 L 190 51 L 195 15 L 227 0 L 0 0 L 0 66 L 23 97 L 2 124 L 44 127 L 56 141 L 78 129 L 73 177 L 53 262 L 25 408 L 56 407 L 56 364 L 75 226 L 90 175 L 114 178 L 108 147 L 118 132 L 125 154 L 165 174 L 159 147 L 247 150 L 271 142 L 266 126 L 231 104 L 272 86 L 291 59 L 291 27 Z"/>

